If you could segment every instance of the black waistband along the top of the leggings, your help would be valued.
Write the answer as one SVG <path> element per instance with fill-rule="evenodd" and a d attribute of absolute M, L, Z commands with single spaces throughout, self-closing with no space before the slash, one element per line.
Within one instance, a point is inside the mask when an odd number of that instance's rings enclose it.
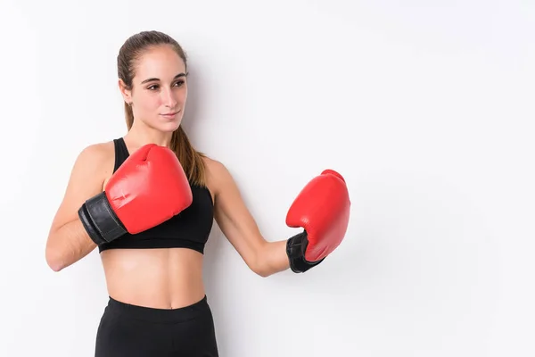
<path fill-rule="evenodd" d="M 182 322 L 193 320 L 205 311 L 210 311 L 207 296 L 188 306 L 177 309 L 157 309 L 152 307 L 138 306 L 130 303 L 122 303 L 110 296 L 107 306 L 111 313 L 119 313 L 136 320 L 152 322 Z"/>

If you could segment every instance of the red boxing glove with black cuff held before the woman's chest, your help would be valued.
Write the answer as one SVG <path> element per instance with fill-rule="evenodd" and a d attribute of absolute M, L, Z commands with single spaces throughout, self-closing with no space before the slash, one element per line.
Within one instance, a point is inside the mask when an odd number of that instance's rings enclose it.
<path fill-rule="evenodd" d="M 123 162 L 104 187 L 78 210 L 97 245 L 157 226 L 193 202 L 189 182 L 169 148 L 148 144 Z"/>

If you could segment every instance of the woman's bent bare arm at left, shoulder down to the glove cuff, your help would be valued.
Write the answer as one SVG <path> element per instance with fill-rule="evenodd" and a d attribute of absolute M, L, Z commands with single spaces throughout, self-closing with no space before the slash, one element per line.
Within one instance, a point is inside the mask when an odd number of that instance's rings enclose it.
<path fill-rule="evenodd" d="M 105 158 L 103 144 L 87 146 L 78 154 L 46 241 L 45 259 L 53 271 L 78 262 L 96 247 L 78 218 L 78 209 L 86 199 L 102 192 Z"/>

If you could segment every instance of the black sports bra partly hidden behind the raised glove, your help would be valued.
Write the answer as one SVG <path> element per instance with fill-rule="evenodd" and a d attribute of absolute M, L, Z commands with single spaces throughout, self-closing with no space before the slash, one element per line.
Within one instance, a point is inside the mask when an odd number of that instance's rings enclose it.
<path fill-rule="evenodd" d="M 128 158 L 128 148 L 122 137 L 114 139 L 115 167 Z M 156 227 L 137 234 L 129 234 L 111 243 L 99 245 L 99 253 L 107 249 L 190 248 L 204 253 L 204 245 L 213 225 L 213 202 L 207 187 L 192 186 L 193 203 L 177 216 Z"/>

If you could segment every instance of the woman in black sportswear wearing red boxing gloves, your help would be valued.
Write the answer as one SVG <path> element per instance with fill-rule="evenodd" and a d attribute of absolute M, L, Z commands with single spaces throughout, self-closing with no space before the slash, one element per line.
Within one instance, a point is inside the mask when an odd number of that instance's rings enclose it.
<path fill-rule="evenodd" d="M 303 231 L 287 240 L 266 241 L 225 166 L 190 145 L 180 126 L 187 98 L 186 56 L 173 38 L 158 31 L 128 38 L 119 50 L 118 74 L 128 133 L 89 145 L 78 155 L 49 232 L 46 261 L 60 271 L 98 247 L 110 300 L 97 331 L 95 356 L 218 356 L 202 283 L 203 248 L 214 218 L 261 277 L 288 268 L 308 270 L 325 254 L 306 251 L 314 228 L 307 229 L 308 236 Z M 140 162 L 149 160 L 150 169 L 141 170 Z M 143 182 L 133 179 L 139 175 L 147 176 Z M 136 196 L 139 187 L 151 191 L 143 196 L 149 201 L 139 195 L 142 201 L 123 206 L 124 190 Z M 309 195 L 322 188 L 314 189 Z M 305 205 L 309 200 L 305 197 Z M 332 211 L 347 216 L 347 204 L 335 204 L 342 209 Z M 164 217 L 168 213 L 160 212 L 161 207 L 175 210 L 172 218 Z M 300 210 L 296 217 L 306 215 Z M 325 216 L 316 220 L 327 227 L 333 221 Z M 345 233 L 344 222 L 336 224 Z M 325 238 L 323 245 L 332 251 L 342 237 L 336 239 Z M 319 233 L 314 241 L 321 244 Z"/>

